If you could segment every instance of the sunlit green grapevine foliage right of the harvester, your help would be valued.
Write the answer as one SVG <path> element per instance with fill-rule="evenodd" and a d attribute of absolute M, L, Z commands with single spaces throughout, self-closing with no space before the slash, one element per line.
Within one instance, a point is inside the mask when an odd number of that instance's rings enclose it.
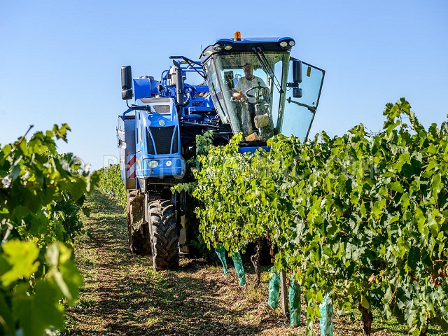
<path fill-rule="evenodd" d="M 325 293 L 360 309 L 365 335 L 372 307 L 413 335 L 448 330 L 447 123 L 426 130 L 403 98 L 384 116 L 376 135 L 279 135 L 253 155 L 237 153 L 238 135 L 198 158 L 204 241 L 244 251 L 269 235 L 275 269 L 304 289 L 309 334 Z"/>

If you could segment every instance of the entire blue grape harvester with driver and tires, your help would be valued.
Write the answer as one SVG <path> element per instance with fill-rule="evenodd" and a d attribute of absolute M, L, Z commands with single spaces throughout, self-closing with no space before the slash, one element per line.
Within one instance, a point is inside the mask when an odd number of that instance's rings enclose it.
<path fill-rule="evenodd" d="M 325 71 L 291 57 L 294 45 L 293 38 L 235 33 L 205 48 L 200 61 L 170 57 L 160 80 L 132 79 L 131 67 L 122 67 L 129 109 L 118 118 L 117 137 L 130 251 L 153 255 L 155 269 L 176 267 L 186 245 L 183 215 L 193 209 L 171 187 L 183 181 L 197 134 L 211 130 L 221 145 L 242 132 L 241 152 L 280 133 L 307 139 Z M 192 74 L 198 84 L 187 83 Z"/>

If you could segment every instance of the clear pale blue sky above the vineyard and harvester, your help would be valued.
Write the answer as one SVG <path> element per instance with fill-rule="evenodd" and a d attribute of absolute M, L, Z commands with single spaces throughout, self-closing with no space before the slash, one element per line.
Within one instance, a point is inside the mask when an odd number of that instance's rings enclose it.
<path fill-rule="evenodd" d="M 406 97 L 428 127 L 447 120 L 448 3 L 433 1 L 0 1 L 0 144 L 57 123 L 93 169 L 113 160 L 120 66 L 154 76 L 218 38 L 290 36 L 325 69 L 311 135 L 381 130 Z"/>

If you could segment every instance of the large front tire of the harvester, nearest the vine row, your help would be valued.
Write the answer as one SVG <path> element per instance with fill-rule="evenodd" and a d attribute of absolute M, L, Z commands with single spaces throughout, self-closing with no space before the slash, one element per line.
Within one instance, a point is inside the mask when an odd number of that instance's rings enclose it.
<path fill-rule="evenodd" d="M 154 269 L 179 267 L 179 233 L 172 202 L 155 200 L 148 208 Z"/>

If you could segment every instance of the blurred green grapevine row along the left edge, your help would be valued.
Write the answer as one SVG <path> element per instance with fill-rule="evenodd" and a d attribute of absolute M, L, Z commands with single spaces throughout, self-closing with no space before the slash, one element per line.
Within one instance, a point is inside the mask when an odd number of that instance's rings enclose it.
<path fill-rule="evenodd" d="M 71 154 L 64 124 L 0 149 L 0 333 L 45 335 L 64 327 L 64 307 L 76 302 L 82 278 L 71 241 L 83 232 L 78 213 L 97 174 Z"/>

